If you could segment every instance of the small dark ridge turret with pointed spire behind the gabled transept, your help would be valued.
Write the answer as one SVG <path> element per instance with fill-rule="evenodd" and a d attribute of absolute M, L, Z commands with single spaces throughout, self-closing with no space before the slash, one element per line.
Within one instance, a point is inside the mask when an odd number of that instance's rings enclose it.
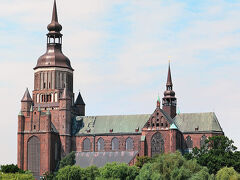
<path fill-rule="evenodd" d="M 164 92 L 164 97 L 162 98 L 162 109 L 168 113 L 171 118 L 174 118 L 176 116 L 176 107 L 177 98 L 175 97 L 175 92 L 173 91 L 171 68 L 169 63 L 166 91 Z"/>

